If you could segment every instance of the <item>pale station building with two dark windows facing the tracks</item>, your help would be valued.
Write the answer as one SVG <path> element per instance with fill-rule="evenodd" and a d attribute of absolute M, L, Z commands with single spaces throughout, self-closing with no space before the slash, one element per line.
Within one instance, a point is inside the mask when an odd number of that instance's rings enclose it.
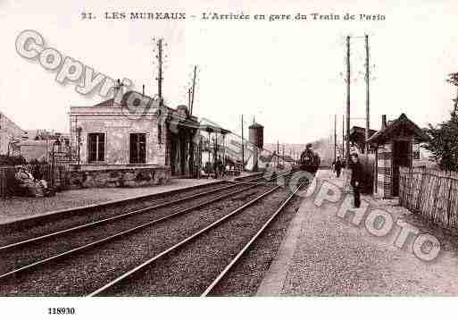
<path fill-rule="evenodd" d="M 128 91 L 120 103 L 71 106 L 70 123 L 71 185 L 147 186 L 196 176 L 199 123 L 187 106 Z"/>

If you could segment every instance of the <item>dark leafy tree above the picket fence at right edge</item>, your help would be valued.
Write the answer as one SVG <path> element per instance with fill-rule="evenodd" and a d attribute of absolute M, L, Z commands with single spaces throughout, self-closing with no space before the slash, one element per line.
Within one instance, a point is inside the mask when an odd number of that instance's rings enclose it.
<path fill-rule="evenodd" d="M 449 75 L 447 82 L 458 87 L 458 72 Z M 453 99 L 450 119 L 437 126 L 429 124 L 427 133 L 431 140 L 423 145 L 443 171 L 458 171 L 458 95 Z"/>

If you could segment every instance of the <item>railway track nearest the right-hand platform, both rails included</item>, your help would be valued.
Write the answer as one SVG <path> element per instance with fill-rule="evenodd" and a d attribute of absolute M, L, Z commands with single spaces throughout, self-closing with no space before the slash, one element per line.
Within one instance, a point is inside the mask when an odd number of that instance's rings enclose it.
<path fill-rule="evenodd" d="M 221 228 L 222 230 L 226 229 L 227 231 L 233 231 L 231 227 L 233 227 L 234 224 L 237 225 L 237 216 L 238 215 L 246 215 L 244 214 L 244 212 L 246 212 L 247 209 L 249 209 L 250 207 L 254 207 L 256 203 L 261 202 L 262 199 L 265 199 L 269 197 L 275 191 L 278 191 L 280 189 L 279 186 L 276 186 L 276 187 L 271 188 L 270 190 L 267 190 L 266 192 L 262 193 L 262 195 L 258 196 L 256 199 L 252 199 L 249 202 L 246 202 L 244 205 L 242 205 L 241 207 L 238 207 L 234 211 L 230 212 L 228 215 L 222 216 L 219 220 L 212 222 L 212 224 L 208 224 L 200 231 L 195 232 L 194 234 L 190 235 L 186 239 L 175 243 L 170 248 L 163 250 L 161 253 L 155 255 L 153 258 L 146 260 L 142 264 L 135 266 L 134 268 L 129 270 L 127 273 L 120 275 L 116 279 L 112 280 L 112 282 L 106 283 L 104 284 L 104 286 L 100 287 L 96 291 L 93 291 L 92 293 L 89 294 L 89 296 L 132 295 L 131 293 L 132 289 L 135 289 L 135 292 L 133 295 L 199 295 L 200 294 L 201 296 L 207 296 L 211 294 L 212 290 L 229 273 L 230 269 L 237 264 L 239 259 L 242 258 L 248 252 L 248 250 L 250 249 L 250 246 L 252 246 L 254 241 L 256 241 L 260 237 L 262 232 L 264 232 L 270 226 L 270 224 L 275 220 L 275 218 L 279 215 L 279 213 L 285 207 L 287 207 L 287 204 L 289 203 L 289 201 L 296 195 L 296 192 L 298 190 L 304 187 L 304 185 L 305 183 L 301 183 L 296 188 L 296 190 L 289 193 L 286 198 L 281 199 L 281 201 L 279 202 L 279 206 L 276 207 L 276 210 L 271 215 L 264 215 L 265 217 L 263 218 L 265 219 L 265 221 L 263 221 L 263 224 L 261 224 L 261 226 L 257 226 L 257 230 L 254 230 L 253 233 L 250 235 L 250 237 L 247 237 L 247 235 L 244 235 L 244 239 L 245 240 L 247 239 L 248 241 L 243 243 L 243 246 L 240 240 L 236 241 L 238 248 L 239 248 L 236 253 L 232 252 L 231 255 L 228 256 L 228 258 L 220 259 L 218 258 L 218 255 L 217 255 L 218 250 L 214 250 L 214 249 L 211 250 L 210 255 L 208 256 L 210 258 L 204 259 L 204 262 L 205 262 L 204 265 L 197 264 L 196 269 L 194 270 L 195 273 L 194 274 L 189 273 L 189 275 L 198 275 L 196 278 L 191 277 L 190 278 L 191 280 L 189 280 L 189 277 L 186 274 L 181 274 L 181 275 L 179 274 L 178 276 L 175 275 L 174 277 L 172 275 L 175 273 L 174 271 L 175 269 L 178 269 L 179 271 L 186 270 L 186 268 L 180 268 L 179 266 L 185 267 L 185 266 L 188 266 L 189 264 L 192 265 L 193 263 L 187 262 L 189 258 L 192 258 L 191 260 L 202 259 L 202 256 L 199 257 L 199 255 L 196 255 L 196 252 L 198 253 L 200 251 L 202 253 L 202 247 L 204 246 L 204 244 L 211 244 L 212 240 L 214 240 L 215 237 L 218 238 L 219 236 L 221 236 Z M 256 215 L 256 213 L 258 213 L 258 211 L 253 210 L 252 208 L 251 215 L 252 216 Z M 253 220 L 251 223 L 254 225 Z M 220 231 L 218 231 L 218 229 L 220 229 Z M 229 233 L 230 232 L 227 232 L 227 234 Z M 210 235 L 213 234 L 213 235 L 209 237 L 208 234 Z M 203 238 L 206 238 L 206 240 L 202 241 Z M 199 239 L 201 243 L 200 246 L 198 245 Z M 196 242 L 197 245 L 193 242 Z M 221 244 L 220 242 L 220 245 L 227 247 L 228 243 L 223 242 Z M 220 249 L 220 250 L 224 251 L 226 249 Z M 179 253 L 177 254 L 176 252 L 179 252 Z M 184 263 L 178 262 L 179 259 L 174 258 L 174 256 L 184 258 L 185 262 Z M 207 285 L 204 287 L 204 290 L 199 292 L 199 289 L 201 289 L 203 283 L 205 283 L 205 281 L 202 282 L 202 278 L 200 277 L 199 272 L 204 271 L 204 266 L 208 264 L 209 261 L 214 261 L 215 258 L 217 261 L 220 260 L 225 263 L 223 265 L 220 264 L 221 270 L 219 273 L 215 274 L 214 271 L 212 271 L 213 276 L 216 275 L 213 278 L 209 278 L 208 275 L 205 275 L 206 277 L 204 277 L 204 279 L 208 279 L 210 281 L 208 281 Z M 177 263 L 180 263 L 180 264 L 177 264 Z M 210 265 L 212 266 L 212 264 Z M 165 266 L 165 268 L 163 268 L 163 266 Z M 153 269 L 155 271 L 146 272 L 147 269 Z M 139 276 L 137 277 L 137 275 Z M 165 280 L 163 279 L 164 275 L 166 275 Z M 172 288 L 173 286 L 171 286 L 171 284 L 173 284 L 173 281 L 179 281 L 179 283 L 181 283 L 182 280 L 186 280 L 187 286 L 183 286 L 183 284 L 179 284 L 178 290 L 176 288 L 175 289 Z M 144 284 L 146 284 L 146 286 Z M 148 289 L 146 289 L 146 287 L 148 287 Z"/>

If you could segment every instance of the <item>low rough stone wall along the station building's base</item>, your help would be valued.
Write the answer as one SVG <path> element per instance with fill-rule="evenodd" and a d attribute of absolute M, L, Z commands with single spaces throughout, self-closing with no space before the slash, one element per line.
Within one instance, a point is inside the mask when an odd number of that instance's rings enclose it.
<path fill-rule="evenodd" d="M 169 166 L 71 170 L 66 188 L 144 187 L 167 183 L 170 178 Z"/>

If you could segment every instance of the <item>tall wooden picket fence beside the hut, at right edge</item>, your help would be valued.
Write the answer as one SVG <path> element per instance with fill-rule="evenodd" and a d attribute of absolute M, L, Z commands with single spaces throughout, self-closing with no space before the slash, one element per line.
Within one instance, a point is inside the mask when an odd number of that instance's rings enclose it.
<path fill-rule="evenodd" d="M 399 198 L 410 209 L 444 227 L 458 227 L 458 173 L 426 167 L 399 169 Z"/>

